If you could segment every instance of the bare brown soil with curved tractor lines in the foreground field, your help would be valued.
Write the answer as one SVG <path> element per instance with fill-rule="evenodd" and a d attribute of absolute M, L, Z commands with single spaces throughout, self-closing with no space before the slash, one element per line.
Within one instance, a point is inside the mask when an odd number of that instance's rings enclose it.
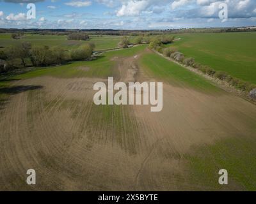
<path fill-rule="evenodd" d="M 137 59 L 113 59 L 120 80 L 154 80 Z M 93 105 L 93 84 L 102 81 L 40 77 L 13 84 L 19 91 L 0 109 L 0 190 L 193 189 L 184 153 L 217 138 L 253 135 L 246 121 L 255 119 L 255 106 L 231 94 L 164 84 L 163 111 L 152 113 L 149 106 Z M 36 170 L 34 187 L 26 184 L 29 168 Z"/>

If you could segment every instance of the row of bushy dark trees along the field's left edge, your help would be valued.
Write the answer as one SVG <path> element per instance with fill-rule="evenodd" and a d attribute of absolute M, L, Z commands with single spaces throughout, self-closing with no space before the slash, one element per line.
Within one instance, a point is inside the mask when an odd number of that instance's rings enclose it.
<path fill-rule="evenodd" d="M 68 61 L 84 61 L 92 57 L 95 45 L 86 43 L 72 50 L 61 47 L 32 46 L 22 42 L 0 50 L 0 73 L 30 66 L 51 66 Z"/>

